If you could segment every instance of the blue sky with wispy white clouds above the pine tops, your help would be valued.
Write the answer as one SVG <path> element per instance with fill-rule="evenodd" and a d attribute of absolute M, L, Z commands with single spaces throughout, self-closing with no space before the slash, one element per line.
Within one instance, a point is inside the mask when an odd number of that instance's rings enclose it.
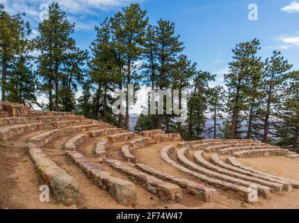
<path fill-rule="evenodd" d="M 0 0 L 10 13 L 25 11 L 32 29 L 40 22 L 42 4 L 48 0 Z M 215 84 L 223 84 L 223 75 L 232 60 L 236 43 L 253 38 L 261 40 L 259 55 L 266 59 L 273 50 L 299 69 L 299 1 L 293 0 L 60 0 L 67 17 L 76 22 L 74 38 L 79 47 L 88 49 L 95 39 L 94 26 L 129 3 L 140 3 L 149 22 L 175 22 L 184 42 L 184 54 L 200 70 L 217 75 Z M 258 6 L 258 20 L 248 20 L 248 6 Z M 41 6 L 42 5 L 42 6 Z M 35 32 L 33 31 L 33 35 Z"/>

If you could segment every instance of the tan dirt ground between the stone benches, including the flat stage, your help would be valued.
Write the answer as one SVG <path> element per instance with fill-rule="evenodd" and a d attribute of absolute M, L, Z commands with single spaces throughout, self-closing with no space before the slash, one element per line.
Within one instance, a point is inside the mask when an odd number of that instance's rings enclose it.
<path fill-rule="evenodd" d="M 40 132 L 42 131 L 23 134 L 14 137 L 12 141 L 26 142 L 34 134 Z M 79 183 L 79 199 L 76 205 L 65 207 L 56 203 L 52 196 L 49 202 L 41 202 L 39 200 L 40 180 L 38 175 L 35 174 L 33 163 L 26 148 L 1 148 L 0 146 L 0 208 L 127 208 L 116 203 L 106 191 L 100 190 L 93 184 L 79 167 L 76 167 L 61 155 L 65 141 L 74 135 L 68 134 L 54 139 L 43 149 L 51 160 L 56 162 L 58 167 L 65 169 Z M 126 176 L 114 171 L 106 164 L 99 163 L 99 160 L 95 158 L 93 151 L 95 144 L 100 139 L 95 138 L 84 141 L 78 147 L 78 151 L 92 160 L 92 162 L 104 167 L 111 175 L 129 180 Z M 122 160 L 120 149 L 123 144 L 124 142 L 108 148 L 107 156 Z M 191 176 L 186 176 L 186 174 L 161 160 L 159 155 L 161 148 L 170 144 L 176 145 L 177 143 L 161 143 L 154 146 L 147 146 L 146 148 L 132 151 L 132 154 L 136 155 L 137 162 L 144 162 L 149 167 L 160 169 L 175 176 L 188 178 L 188 180 L 193 180 L 196 183 L 201 183 L 199 180 Z M 177 161 L 175 154 L 171 155 L 171 157 Z M 287 157 L 246 158 L 240 161 L 243 164 L 269 174 L 299 180 L 299 161 L 291 160 Z M 206 186 L 209 187 L 209 185 Z M 167 203 L 145 190 L 142 185 L 136 183 L 136 189 L 138 194 L 138 206 L 136 208 L 299 208 L 299 189 L 294 189 L 293 192 L 284 192 L 280 196 L 271 194 L 270 201 L 259 198 L 259 202 L 254 205 L 249 205 L 234 196 L 234 194 L 228 194 L 222 190 L 217 190 L 216 203 L 204 203 L 184 190 L 183 201 L 180 203 Z"/>

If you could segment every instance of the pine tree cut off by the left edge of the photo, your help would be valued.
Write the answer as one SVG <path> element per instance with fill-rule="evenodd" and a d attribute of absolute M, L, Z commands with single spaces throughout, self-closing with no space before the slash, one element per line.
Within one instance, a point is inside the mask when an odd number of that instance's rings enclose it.
<path fill-rule="evenodd" d="M 6 100 L 8 76 L 13 75 L 11 73 L 13 63 L 26 44 L 26 35 L 29 33 L 29 23 L 24 22 L 22 15 L 9 15 L 3 4 L 0 4 L 1 100 L 3 101 Z"/>

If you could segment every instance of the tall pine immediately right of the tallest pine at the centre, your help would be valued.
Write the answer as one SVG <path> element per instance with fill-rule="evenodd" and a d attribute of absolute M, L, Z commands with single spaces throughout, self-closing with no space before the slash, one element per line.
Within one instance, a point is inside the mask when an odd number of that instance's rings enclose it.
<path fill-rule="evenodd" d="M 170 21 L 159 20 L 156 26 L 156 55 L 157 72 L 156 89 L 170 89 L 172 74 L 177 62 L 177 54 L 183 51 L 183 43 L 179 36 L 175 36 L 175 24 Z M 166 116 L 166 124 L 170 118 Z M 162 115 L 158 115 L 158 128 L 162 128 Z"/>

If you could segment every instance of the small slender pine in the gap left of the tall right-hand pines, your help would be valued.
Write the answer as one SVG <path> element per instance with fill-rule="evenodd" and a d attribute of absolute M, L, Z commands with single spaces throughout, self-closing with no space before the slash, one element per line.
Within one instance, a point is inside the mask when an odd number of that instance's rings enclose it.
<path fill-rule="evenodd" d="M 223 86 L 215 86 L 209 91 L 209 110 L 213 114 L 213 138 L 217 137 L 217 118 L 223 118 L 220 112 L 225 112 L 226 95 Z"/>

